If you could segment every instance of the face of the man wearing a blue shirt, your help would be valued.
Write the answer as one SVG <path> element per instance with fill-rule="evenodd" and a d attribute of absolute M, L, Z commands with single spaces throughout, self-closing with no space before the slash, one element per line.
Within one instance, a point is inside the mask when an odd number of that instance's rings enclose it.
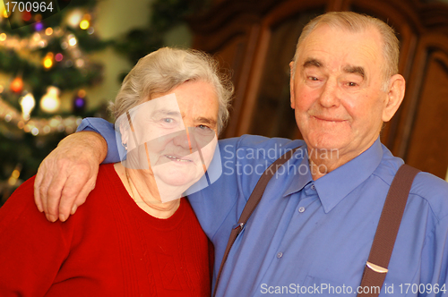
<path fill-rule="evenodd" d="M 309 148 L 358 156 L 379 135 L 387 93 L 382 39 L 320 25 L 298 49 L 291 106 Z M 292 66 L 292 64 L 291 64 Z"/>

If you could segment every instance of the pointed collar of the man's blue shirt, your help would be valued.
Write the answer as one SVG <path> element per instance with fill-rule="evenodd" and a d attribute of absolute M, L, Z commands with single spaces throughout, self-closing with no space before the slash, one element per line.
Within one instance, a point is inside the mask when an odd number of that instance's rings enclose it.
<path fill-rule="evenodd" d="M 306 146 L 304 146 L 303 149 L 306 149 Z M 355 157 L 348 163 L 341 165 L 331 173 L 323 175 L 323 177 L 315 182 L 313 181 L 309 170 L 308 158 L 304 157 L 300 165 L 302 165 L 303 168 L 306 166 L 306 173 L 295 174 L 293 182 L 291 182 L 288 190 L 285 191 L 283 196 L 286 197 L 294 192 L 301 191 L 308 182 L 314 182 L 315 189 L 323 205 L 323 211 L 328 213 L 341 199 L 346 197 L 349 192 L 355 190 L 359 184 L 366 181 L 366 179 L 374 173 L 376 167 L 380 164 L 382 157 L 383 148 L 380 138 L 378 137 L 374 144 L 370 148 L 367 148 L 361 155 Z"/>

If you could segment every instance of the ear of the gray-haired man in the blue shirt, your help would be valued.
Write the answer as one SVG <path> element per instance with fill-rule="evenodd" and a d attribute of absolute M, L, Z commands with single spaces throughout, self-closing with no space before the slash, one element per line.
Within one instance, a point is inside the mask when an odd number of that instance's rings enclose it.
<path fill-rule="evenodd" d="M 389 122 L 395 115 L 403 101 L 405 89 L 406 81 L 401 74 L 393 75 L 389 82 L 386 102 L 384 103 L 383 122 Z"/>

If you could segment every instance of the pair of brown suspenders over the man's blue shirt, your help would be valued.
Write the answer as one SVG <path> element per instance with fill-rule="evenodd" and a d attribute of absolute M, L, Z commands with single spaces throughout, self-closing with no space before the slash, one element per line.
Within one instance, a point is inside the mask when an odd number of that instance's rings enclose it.
<path fill-rule="evenodd" d="M 246 202 L 246 207 L 243 209 L 241 216 L 239 217 L 238 224 L 232 229 L 228 238 L 228 245 L 224 251 L 224 256 L 221 261 L 220 271 L 216 278 L 215 288 L 213 290 L 213 297 L 216 294 L 218 284 L 220 282 L 220 276 L 222 268 L 228 258 L 228 253 L 233 245 L 233 242 L 237 239 L 238 234 L 243 230 L 247 220 L 254 212 L 254 209 L 263 197 L 264 189 L 268 182 L 271 180 L 273 174 L 277 172 L 280 165 L 286 163 L 290 157 L 294 154 L 297 148 L 289 150 L 286 154 L 278 158 L 272 163 L 268 169 L 264 171 L 260 180 L 256 183 L 254 191 Z M 403 216 L 404 208 L 406 207 L 406 201 L 408 200 L 410 186 L 414 181 L 414 177 L 420 171 L 409 165 L 401 165 L 397 174 L 392 181 L 391 188 L 387 193 L 386 200 L 384 202 L 383 211 L 381 213 L 380 221 L 376 228 L 374 242 L 370 250 L 370 254 L 364 269 L 364 274 L 361 281 L 361 287 L 373 287 L 377 286 L 380 290 L 377 293 L 358 293 L 358 297 L 365 296 L 378 296 L 383 286 L 384 278 L 387 273 L 387 267 L 389 266 L 389 260 L 391 259 L 393 245 L 397 238 L 397 233 L 401 224 L 401 217 Z"/>

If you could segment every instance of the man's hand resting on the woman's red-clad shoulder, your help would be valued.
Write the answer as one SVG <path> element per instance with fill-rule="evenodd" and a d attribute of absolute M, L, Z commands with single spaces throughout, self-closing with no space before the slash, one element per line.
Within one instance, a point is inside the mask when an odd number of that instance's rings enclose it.
<path fill-rule="evenodd" d="M 98 133 L 67 136 L 40 164 L 34 182 L 34 200 L 47 220 L 65 221 L 95 188 L 99 164 L 108 144 Z"/>

